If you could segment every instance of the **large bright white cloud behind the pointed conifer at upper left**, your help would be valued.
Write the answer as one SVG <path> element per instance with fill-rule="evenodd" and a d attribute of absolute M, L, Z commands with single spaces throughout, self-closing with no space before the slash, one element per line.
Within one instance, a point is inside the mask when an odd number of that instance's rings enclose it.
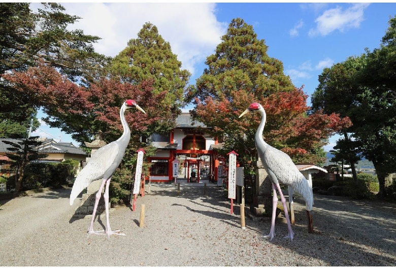
<path fill-rule="evenodd" d="M 196 64 L 213 54 L 228 24 L 216 20 L 215 3 L 62 3 L 68 14 L 81 17 L 73 24 L 86 35 L 101 37 L 95 50 L 116 56 L 137 38 L 146 22 L 169 42 L 182 68 L 194 74 Z"/>

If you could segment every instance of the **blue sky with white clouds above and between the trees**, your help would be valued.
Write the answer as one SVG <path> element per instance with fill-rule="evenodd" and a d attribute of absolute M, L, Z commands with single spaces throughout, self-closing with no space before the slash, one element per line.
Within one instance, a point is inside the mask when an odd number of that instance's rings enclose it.
<path fill-rule="evenodd" d="M 200 77 L 233 18 L 242 18 L 263 39 L 268 55 L 283 62 L 284 73 L 309 96 L 323 68 L 378 48 L 396 15 L 396 3 L 61 3 L 82 19 L 72 28 L 102 38 L 96 51 L 115 56 L 145 22 L 171 44 L 182 68 Z M 33 4 L 33 8 L 35 5 Z M 311 104 L 308 98 L 308 105 Z M 188 110 L 187 107 L 186 109 Z M 39 113 L 39 117 L 42 113 Z M 42 124 L 32 135 L 74 142 L 70 135 Z M 337 137 L 325 150 L 332 149 Z"/>

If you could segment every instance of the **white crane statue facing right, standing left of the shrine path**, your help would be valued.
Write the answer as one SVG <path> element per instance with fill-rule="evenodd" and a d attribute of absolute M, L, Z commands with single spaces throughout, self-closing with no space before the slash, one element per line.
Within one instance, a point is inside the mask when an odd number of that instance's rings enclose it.
<path fill-rule="evenodd" d="M 112 231 L 109 224 L 109 185 L 111 177 L 114 171 L 120 164 L 122 157 L 124 156 L 125 149 L 129 144 L 130 130 L 125 120 L 124 112 L 129 108 L 137 108 L 144 114 L 146 112 L 140 108 L 134 100 L 126 100 L 120 109 L 120 119 L 123 128 L 122 136 L 113 141 L 110 144 L 103 146 L 92 154 L 91 159 L 87 165 L 80 171 L 73 184 L 72 193 L 70 194 L 70 205 L 73 205 L 73 201 L 81 193 L 83 189 L 95 180 L 102 179 L 102 185 L 96 193 L 95 205 L 93 207 L 93 214 L 91 223 L 88 227 L 88 234 L 107 234 L 110 237 L 112 234 L 118 234 L 124 236 L 125 234 L 120 233 L 120 230 Z M 94 231 L 93 221 L 95 219 L 97 204 L 102 196 L 102 189 L 106 184 L 105 193 L 103 195 L 105 199 L 105 210 L 106 210 L 106 230 Z M 105 233 L 103 233 L 105 232 Z"/>

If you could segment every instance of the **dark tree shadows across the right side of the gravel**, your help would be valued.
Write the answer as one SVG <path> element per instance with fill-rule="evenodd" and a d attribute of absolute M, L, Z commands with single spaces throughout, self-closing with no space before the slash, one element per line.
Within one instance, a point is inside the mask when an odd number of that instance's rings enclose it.
<path fill-rule="evenodd" d="M 172 206 L 182 206 L 190 211 L 217 218 L 225 225 L 240 227 L 239 205 L 234 205 L 234 215 L 229 214 L 229 199 L 221 187 L 207 186 L 205 196 L 202 185 L 181 185 L 180 195 L 177 194 L 177 185 L 156 186 L 156 189 L 153 192 L 155 195 L 179 196 L 217 212 L 194 210 L 180 204 Z M 197 198 L 202 203 L 196 201 Z M 308 233 L 305 202 L 299 197 L 294 201 L 293 241 L 283 238 L 287 234 L 287 224 L 278 221 L 275 225 L 276 237 L 268 242 L 285 248 L 285 255 L 287 251 L 293 251 L 305 256 L 307 260 L 316 258 L 331 266 L 396 265 L 396 209 L 393 204 L 315 194 L 312 213 L 314 233 Z M 247 214 L 248 210 L 245 208 L 245 216 Z M 246 218 L 246 227 L 267 234 L 271 228 L 271 218 Z M 372 240 L 373 238 L 376 240 Z M 268 239 L 262 237 L 262 241 Z M 305 247 L 300 247 L 302 245 Z M 304 264 L 307 262 L 296 261 L 294 266 Z"/>

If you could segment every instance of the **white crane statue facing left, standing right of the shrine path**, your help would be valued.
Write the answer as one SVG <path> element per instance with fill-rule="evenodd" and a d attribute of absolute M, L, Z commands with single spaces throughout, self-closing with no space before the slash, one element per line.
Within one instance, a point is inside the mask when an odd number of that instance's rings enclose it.
<path fill-rule="evenodd" d="M 258 103 L 252 103 L 249 108 L 247 108 L 239 117 L 242 117 L 246 113 L 250 111 L 258 111 L 261 114 L 261 122 L 257 128 L 255 133 L 254 141 L 256 144 L 256 149 L 262 164 L 264 165 L 270 179 L 272 182 L 273 188 L 273 206 L 272 206 L 272 222 L 271 222 L 271 230 L 266 237 L 270 237 L 270 241 L 275 237 L 275 212 L 278 203 L 278 196 L 276 194 L 276 190 L 278 190 L 279 195 L 281 197 L 283 210 L 285 212 L 288 234 L 287 237 L 290 240 L 293 240 L 294 232 L 291 229 L 289 215 L 287 213 L 286 199 L 282 194 L 282 190 L 279 186 L 279 183 L 285 184 L 289 187 L 292 187 L 296 192 L 300 193 L 305 202 L 307 208 L 307 214 L 309 218 L 309 227 L 312 227 L 312 217 L 311 210 L 313 204 L 313 194 L 312 190 L 308 185 L 308 181 L 303 176 L 303 174 L 297 169 L 294 165 L 293 161 L 290 157 L 274 147 L 268 145 L 262 138 L 262 131 L 266 124 L 266 111 L 262 108 L 262 106 Z M 309 228 L 310 230 L 310 228 Z"/>

